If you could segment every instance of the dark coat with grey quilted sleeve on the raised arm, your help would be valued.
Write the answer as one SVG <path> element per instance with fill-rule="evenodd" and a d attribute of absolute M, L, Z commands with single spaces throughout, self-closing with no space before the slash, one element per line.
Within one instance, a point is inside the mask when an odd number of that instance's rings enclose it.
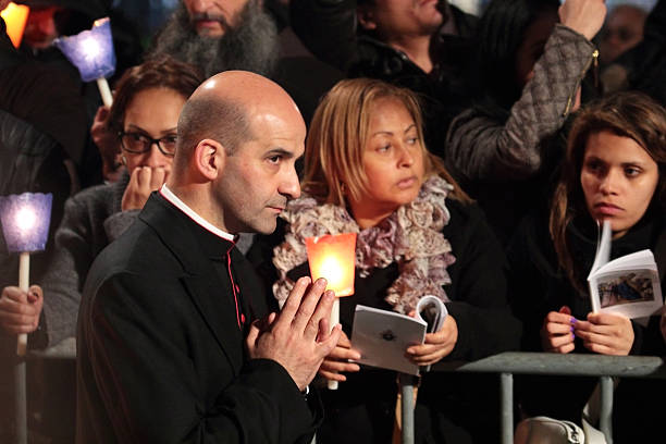
<path fill-rule="evenodd" d="M 582 35 L 555 25 L 510 110 L 476 104 L 451 124 L 446 168 L 477 199 L 503 244 L 550 192 L 566 145 L 560 130 L 594 50 Z"/>

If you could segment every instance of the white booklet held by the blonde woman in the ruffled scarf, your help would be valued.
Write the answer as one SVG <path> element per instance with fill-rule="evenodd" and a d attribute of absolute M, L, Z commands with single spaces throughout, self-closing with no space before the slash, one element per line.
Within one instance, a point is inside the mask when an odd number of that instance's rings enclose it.
<path fill-rule="evenodd" d="M 357 362 L 419 374 L 419 366 L 405 357 L 405 350 L 411 345 L 422 344 L 425 333 L 439 331 L 448 311 L 442 299 L 427 295 L 419 299 L 416 313 L 416 318 L 411 318 L 357 305 L 351 331 L 351 347 L 361 354 Z"/>

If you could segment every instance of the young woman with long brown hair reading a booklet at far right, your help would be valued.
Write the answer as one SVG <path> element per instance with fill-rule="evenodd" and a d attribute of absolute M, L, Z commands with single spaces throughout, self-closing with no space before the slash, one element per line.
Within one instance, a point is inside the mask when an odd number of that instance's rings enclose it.
<path fill-rule="evenodd" d="M 666 110 L 639 92 L 620 92 L 592 103 L 574 122 L 562 173 L 550 222 L 545 214 L 528 218 L 508 251 L 511 306 L 523 322 L 523 347 L 560 354 L 663 355 L 658 317 L 638 322 L 592 312 L 587 275 L 600 225 L 609 221 L 610 258 L 651 249 L 662 287 L 666 283 Z M 528 383 L 523 407 L 530 415 L 579 421 L 594 381 L 585 384 L 577 385 L 571 379 Z M 616 396 L 637 385 L 622 381 Z M 614 427 L 618 442 L 643 442 L 634 433 L 643 428 L 634 420 L 654 431 L 645 415 L 628 419 L 631 412 L 645 414 L 636 404 L 622 406 L 618 399 L 616 406 L 617 411 L 628 410 Z M 621 434 L 627 430 L 629 441 Z"/>

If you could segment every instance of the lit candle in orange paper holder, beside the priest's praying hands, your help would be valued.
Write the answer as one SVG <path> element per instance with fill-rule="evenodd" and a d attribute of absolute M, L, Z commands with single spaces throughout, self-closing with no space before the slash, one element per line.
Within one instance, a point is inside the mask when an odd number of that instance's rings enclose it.
<path fill-rule="evenodd" d="M 354 294 L 356 233 L 308 237 L 306 248 L 312 282 L 324 278 L 328 281 L 326 289 L 335 292 L 335 301 L 331 310 L 331 328 L 333 328 L 340 323 L 338 298 Z M 329 388 L 336 390 L 337 381 L 329 381 Z"/>

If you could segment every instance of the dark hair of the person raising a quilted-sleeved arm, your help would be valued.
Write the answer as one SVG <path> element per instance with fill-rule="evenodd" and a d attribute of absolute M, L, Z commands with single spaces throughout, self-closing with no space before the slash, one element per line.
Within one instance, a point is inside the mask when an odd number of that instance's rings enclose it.
<path fill-rule="evenodd" d="M 546 13 L 557 14 L 558 0 L 492 0 L 477 27 L 477 62 L 471 73 L 481 87 L 478 101 L 508 114 L 520 98 L 516 52 L 528 27 Z"/>

